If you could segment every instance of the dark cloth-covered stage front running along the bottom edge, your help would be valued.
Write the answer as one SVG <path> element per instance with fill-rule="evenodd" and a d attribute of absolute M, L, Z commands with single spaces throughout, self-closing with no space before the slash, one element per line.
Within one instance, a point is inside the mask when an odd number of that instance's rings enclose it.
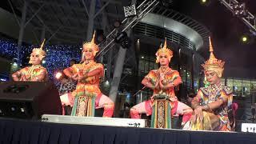
<path fill-rule="evenodd" d="M 255 144 L 256 134 L 89 126 L 0 118 L 0 143 Z"/>

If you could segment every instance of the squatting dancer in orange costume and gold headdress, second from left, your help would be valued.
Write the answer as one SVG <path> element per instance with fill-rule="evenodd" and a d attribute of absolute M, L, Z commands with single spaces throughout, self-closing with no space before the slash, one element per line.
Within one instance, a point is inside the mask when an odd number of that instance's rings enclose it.
<path fill-rule="evenodd" d="M 95 108 L 104 108 L 103 117 L 112 117 L 114 113 L 114 102 L 99 89 L 99 81 L 103 76 L 103 65 L 94 62 L 94 56 L 98 52 L 98 45 L 94 43 L 95 33 L 91 42 L 83 44 L 82 64 L 74 64 L 64 70 L 70 78 L 78 76 L 76 90 L 71 94 L 74 99 L 74 106 L 71 115 L 75 116 L 94 116 Z M 92 58 L 86 58 L 86 53 L 92 53 Z M 73 102 L 69 102 L 73 103 Z"/>

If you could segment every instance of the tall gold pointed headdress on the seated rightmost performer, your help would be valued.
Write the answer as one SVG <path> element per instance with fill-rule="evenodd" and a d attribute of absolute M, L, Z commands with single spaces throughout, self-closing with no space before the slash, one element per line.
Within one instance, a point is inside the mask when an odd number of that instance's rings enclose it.
<path fill-rule="evenodd" d="M 214 48 L 211 44 L 210 37 L 209 37 L 209 45 L 210 45 L 210 47 L 209 47 L 210 58 L 204 64 L 202 64 L 202 67 L 204 68 L 205 71 L 210 71 L 211 70 L 211 71 L 216 72 L 218 74 L 218 77 L 221 78 L 223 70 L 224 70 L 225 62 L 215 58 Z"/>

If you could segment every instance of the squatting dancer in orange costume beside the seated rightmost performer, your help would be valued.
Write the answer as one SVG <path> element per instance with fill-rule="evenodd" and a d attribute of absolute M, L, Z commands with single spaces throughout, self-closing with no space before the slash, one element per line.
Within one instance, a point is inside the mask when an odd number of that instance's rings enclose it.
<path fill-rule="evenodd" d="M 161 58 L 168 60 L 161 64 Z M 153 96 L 146 102 L 139 103 L 130 110 L 131 118 L 140 118 L 139 114 L 146 113 L 151 116 L 151 127 L 171 128 L 171 118 L 177 115 L 183 115 L 182 122 L 189 120 L 191 108 L 182 102 L 174 93 L 174 86 L 182 82 L 177 70 L 169 67 L 173 52 L 167 48 L 166 40 L 164 46 L 160 46 L 156 53 L 156 62 L 160 62 L 158 70 L 150 70 L 150 73 L 142 80 L 142 84 L 154 90 Z M 166 61 L 166 60 L 164 60 Z M 161 86 L 159 86 L 161 85 Z"/>

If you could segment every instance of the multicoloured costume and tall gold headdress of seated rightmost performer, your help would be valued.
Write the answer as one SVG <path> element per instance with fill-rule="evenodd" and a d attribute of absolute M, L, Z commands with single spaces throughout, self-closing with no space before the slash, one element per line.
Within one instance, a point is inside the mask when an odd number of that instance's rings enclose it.
<path fill-rule="evenodd" d="M 214 49 L 210 42 L 210 58 L 202 64 L 202 67 L 204 68 L 205 74 L 213 71 L 217 74 L 218 78 L 221 78 L 225 62 L 215 58 L 213 52 Z M 230 131 L 231 127 L 228 111 L 231 109 L 232 100 L 232 90 L 229 87 L 224 86 L 221 82 L 200 88 L 193 101 L 198 103 L 198 106 L 205 106 L 206 110 L 202 111 L 201 121 L 199 118 L 196 118 L 195 122 L 192 122 L 192 119 L 190 120 L 190 129 Z M 219 105 L 219 103 L 222 102 L 222 105 L 210 109 L 210 104 L 213 102 L 215 102 L 214 105 Z"/>

